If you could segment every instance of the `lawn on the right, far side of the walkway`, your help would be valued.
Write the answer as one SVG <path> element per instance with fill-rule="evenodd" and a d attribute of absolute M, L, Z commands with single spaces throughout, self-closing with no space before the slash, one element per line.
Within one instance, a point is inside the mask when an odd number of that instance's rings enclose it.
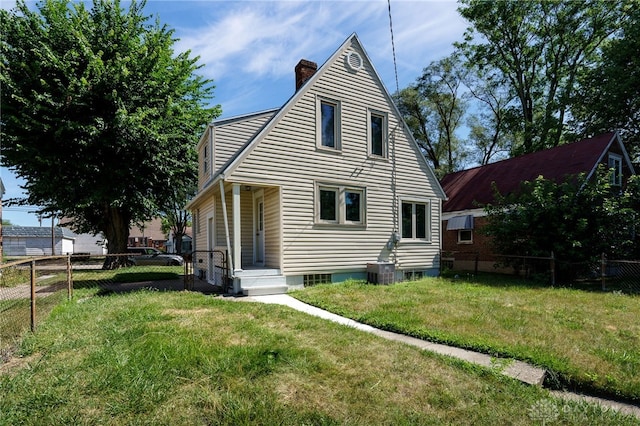
<path fill-rule="evenodd" d="M 637 296 L 491 276 L 348 282 L 292 295 L 386 330 L 544 366 L 550 385 L 640 401 Z"/>

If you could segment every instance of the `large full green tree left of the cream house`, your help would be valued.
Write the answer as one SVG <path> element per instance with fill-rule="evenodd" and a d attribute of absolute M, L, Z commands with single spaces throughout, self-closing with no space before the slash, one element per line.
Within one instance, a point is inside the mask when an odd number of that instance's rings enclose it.
<path fill-rule="evenodd" d="M 2 160 L 26 180 L 24 203 L 103 232 L 126 250 L 131 223 L 156 215 L 195 175 L 195 141 L 219 113 L 198 58 L 145 2 L 19 0 L 1 10 Z"/>

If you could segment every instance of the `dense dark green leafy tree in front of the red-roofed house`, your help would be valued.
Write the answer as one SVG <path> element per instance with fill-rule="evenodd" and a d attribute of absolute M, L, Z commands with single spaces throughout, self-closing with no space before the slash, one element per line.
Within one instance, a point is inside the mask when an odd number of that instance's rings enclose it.
<path fill-rule="evenodd" d="M 616 259 L 640 255 L 640 177 L 624 191 L 610 184 L 610 170 L 600 166 L 585 182 L 584 175 L 554 182 L 542 176 L 523 182 L 517 193 L 496 191 L 485 206 L 483 232 L 497 253 L 549 256 L 566 262 L 593 262 L 607 253 Z M 564 271 L 568 270 L 565 267 Z"/>

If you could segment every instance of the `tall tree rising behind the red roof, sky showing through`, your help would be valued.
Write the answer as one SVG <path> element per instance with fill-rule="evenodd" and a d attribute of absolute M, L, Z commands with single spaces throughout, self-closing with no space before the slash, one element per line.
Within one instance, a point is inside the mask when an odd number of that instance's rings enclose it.
<path fill-rule="evenodd" d="M 627 0 L 628 1 L 628 0 Z M 619 27 L 625 1 L 461 0 L 471 26 L 457 46 L 474 63 L 499 69 L 517 98 L 519 146 L 535 152 L 563 142 L 577 75 Z"/>

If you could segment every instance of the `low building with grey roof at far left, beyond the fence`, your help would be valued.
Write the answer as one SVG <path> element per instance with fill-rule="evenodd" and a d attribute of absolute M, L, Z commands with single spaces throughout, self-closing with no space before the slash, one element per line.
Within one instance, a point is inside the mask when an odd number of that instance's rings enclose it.
<path fill-rule="evenodd" d="M 58 226 L 3 226 L 5 256 L 49 256 L 73 254 L 75 234 Z"/>

